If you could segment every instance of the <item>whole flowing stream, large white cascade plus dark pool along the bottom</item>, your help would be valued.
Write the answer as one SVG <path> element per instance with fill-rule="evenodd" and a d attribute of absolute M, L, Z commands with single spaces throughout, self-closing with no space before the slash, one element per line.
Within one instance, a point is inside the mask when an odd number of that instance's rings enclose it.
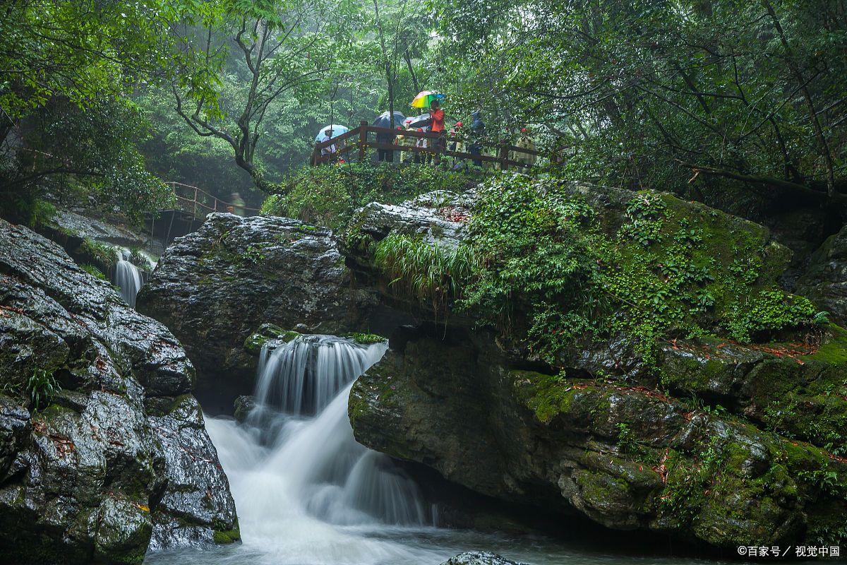
<path fill-rule="evenodd" d="M 145 562 L 439 565 L 470 550 L 533 565 L 695 562 L 609 554 L 609 544 L 579 537 L 554 541 L 440 528 L 437 509 L 412 479 L 353 438 L 347 418 L 352 382 L 386 348 L 328 335 L 263 348 L 256 407 L 246 421 L 206 420 L 230 479 L 243 543 L 150 553 Z"/>

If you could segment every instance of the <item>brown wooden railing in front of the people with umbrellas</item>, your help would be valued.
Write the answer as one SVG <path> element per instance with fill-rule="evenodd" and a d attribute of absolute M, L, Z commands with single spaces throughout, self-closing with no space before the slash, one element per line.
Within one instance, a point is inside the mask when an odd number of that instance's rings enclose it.
<path fill-rule="evenodd" d="M 416 145 L 401 145 L 395 143 L 383 143 L 379 141 L 371 141 L 368 139 L 368 134 L 384 134 L 387 136 L 403 136 L 404 139 L 412 137 L 417 139 L 426 139 L 429 141 L 428 145 L 435 145 L 436 141 L 440 141 L 440 148 L 438 147 L 418 147 Z M 469 147 L 475 145 L 480 147 L 480 153 L 482 150 L 488 150 L 491 152 L 495 152 L 495 155 L 485 155 L 479 154 L 474 155 L 473 153 L 468 152 L 460 152 L 460 151 L 451 151 L 447 149 L 451 144 L 458 143 L 462 144 L 464 147 Z M 325 147 L 329 147 L 335 145 L 335 152 L 329 155 L 322 155 L 323 149 Z M 457 145 L 457 147 L 459 147 Z M 468 137 L 456 137 L 456 136 L 446 136 L 446 132 L 432 132 L 432 131 L 413 131 L 413 130 L 392 130 L 390 128 L 382 128 L 374 125 L 368 125 L 368 122 L 361 122 L 359 127 L 354 130 L 347 131 L 340 136 L 335 136 L 330 138 L 327 141 L 318 141 L 315 143 L 314 150 L 312 152 L 312 160 L 311 163 L 313 165 L 319 165 L 323 163 L 331 163 L 336 161 L 338 158 L 348 155 L 350 152 L 357 152 L 358 160 L 363 162 L 368 154 L 368 149 L 383 149 L 385 151 L 398 151 L 398 152 L 412 152 L 412 153 L 424 153 L 429 155 L 443 155 L 446 157 L 453 157 L 457 159 L 468 159 L 470 161 L 482 161 L 484 163 L 495 163 L 500 165 L 500 168 L 503 170 L 509 169 L 509 167 L 528 167 L 527 162 L 519 161 L 512 159 L 511 156 L 515 154 L 523 154 L 526 156 L 529 162 L 534 162 L 534 160 L 540 155 L 540 152 L 535 151 L 534 149 L 529 149 L 528 147 L 518 147 L 514 146 L 511 143 L 489 143 L 481 140 L 473 140 Z M 346 160 L 350 160 L 347 158 Z"/>

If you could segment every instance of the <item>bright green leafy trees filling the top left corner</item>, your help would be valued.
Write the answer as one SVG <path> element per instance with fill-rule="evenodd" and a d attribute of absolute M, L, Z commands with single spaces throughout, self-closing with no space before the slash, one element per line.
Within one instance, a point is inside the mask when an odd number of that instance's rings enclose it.
<path fill-rule="evenodd" d="M 196 8 L 197 6 L 195 6 Z M 146 123 L 126 92 L 167 74 L 184 3 L 12 3 L 0 20 L 0 198 L 29 224 L 50 179 L 60 202 L 97 202 L 132 222 L 169 191 L 144 169 Z M 8 150 L 11 148 L 11 150 Z"/>

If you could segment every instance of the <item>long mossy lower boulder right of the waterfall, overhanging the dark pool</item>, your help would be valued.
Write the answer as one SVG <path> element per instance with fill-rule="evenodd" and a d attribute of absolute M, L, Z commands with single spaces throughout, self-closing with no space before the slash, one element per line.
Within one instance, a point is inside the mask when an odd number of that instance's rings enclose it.
<path fill-rule="evenodd" d="M 408 341 L 349 413 L 366 446 L 612 529 L 771 546 L 838 539 L 847 519 L 844 458 L 643 385 L 508 368 L 493 341 Z"/>

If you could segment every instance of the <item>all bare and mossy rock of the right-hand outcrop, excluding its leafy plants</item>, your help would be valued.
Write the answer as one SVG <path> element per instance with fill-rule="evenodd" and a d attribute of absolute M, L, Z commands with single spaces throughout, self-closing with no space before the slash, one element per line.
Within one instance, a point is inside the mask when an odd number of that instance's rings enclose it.
<path fill-rule="evenodd" d="M 579 183 L 567 190 L 610 235 L 634 197 Z M 662 198 L 680 217 L 756 241 L 763 285 L 789 264 L 766 228 Z M 353 386 L 357 440 L 484 495 L 575 509 L 613 529 L 728 547 L 844 536 L 844 330 L 767 346 L 679 339 L 652 367 L 623 341 L 580 343 L 551 374 L 514 335 L 480 330 L 468 313 L 435 324 L 413 296 L 390 291 L 374 263 L 372 243 L 393 233 L 457 248 L 467 213 L 467 198 L 370 204 L 343 235 L 357 281 L 425 320 L 390 335 L 390 351 Z"/>

